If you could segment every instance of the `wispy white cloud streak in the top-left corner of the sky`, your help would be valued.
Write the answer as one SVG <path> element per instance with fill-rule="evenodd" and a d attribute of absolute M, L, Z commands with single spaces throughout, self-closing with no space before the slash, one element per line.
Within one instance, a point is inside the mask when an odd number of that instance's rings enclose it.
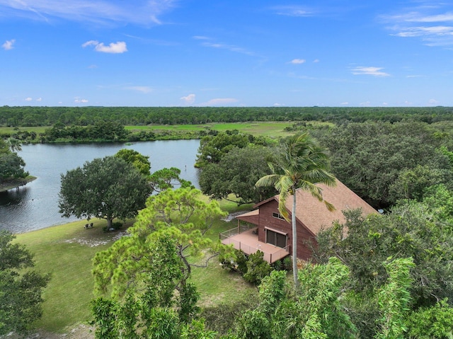
<path fill-rule="evenodd" d="M 51 21 L 64 18 L 69 21 L 95 24 L 137 23 L 161 24 L 159 16 L 173 9 L 177 0 L 0 0 L 0 16 L 20 16 L 35 20 Z"/>

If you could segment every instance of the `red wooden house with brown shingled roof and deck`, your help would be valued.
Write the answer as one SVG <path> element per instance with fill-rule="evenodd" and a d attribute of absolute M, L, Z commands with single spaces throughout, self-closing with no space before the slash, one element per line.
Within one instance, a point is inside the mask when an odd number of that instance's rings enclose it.
<path fill-rule="evenodd" d="M 365 215 L 377 213 L 340 180 L 336 180 L 336 186 L 333 187 L 324 184 L 318 186 L 322 190 L 323 199 L 336 209 L 329 212 L 326 205 L 310 193 L 300 189 L 296 191 L 297 258 L 302 260 L 311 258 L 311 248 L 307 242 L 311 241 L 316 246 L 316 234 L 321 229 L 331 226 L 336 220 L 345 222 L 344 210 L 361 208 Z M 237 216 L 238 226 L 220 234 L 222 243 L 232 243 L 234 248 L 246 254 L 260 250 L 268 263 L 274 263 L 292 253 L 292 226 L 280 215 L 278 198 L 279 195 L 275 195 L 258 202 L 251 212 Z M 287 198 L 286 208 L 291 218 L 292 196 Z M 243 231 L 246 226 L 243 222 L 252 224 L 253 227 Z"/>

